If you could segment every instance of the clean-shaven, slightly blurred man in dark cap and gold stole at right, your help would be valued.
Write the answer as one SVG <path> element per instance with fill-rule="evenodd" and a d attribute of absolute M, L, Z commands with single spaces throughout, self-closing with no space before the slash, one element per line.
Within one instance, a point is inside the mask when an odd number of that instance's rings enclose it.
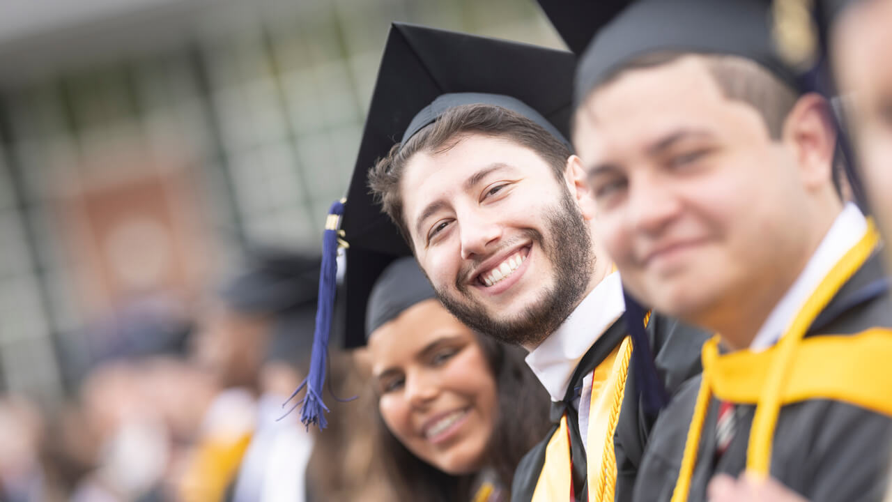
<path fill-rule="evenodd" d="M 770 14 L 645 0 L 577 72 L 574 143 L 624 283 L 719 334 L 651 431 L 636 500 L 703 500 L 714 474 L 744 470 L 814 501 L 886 486 L 879 240 L 835 193 L 830 107 L 795 90 Z"/>

